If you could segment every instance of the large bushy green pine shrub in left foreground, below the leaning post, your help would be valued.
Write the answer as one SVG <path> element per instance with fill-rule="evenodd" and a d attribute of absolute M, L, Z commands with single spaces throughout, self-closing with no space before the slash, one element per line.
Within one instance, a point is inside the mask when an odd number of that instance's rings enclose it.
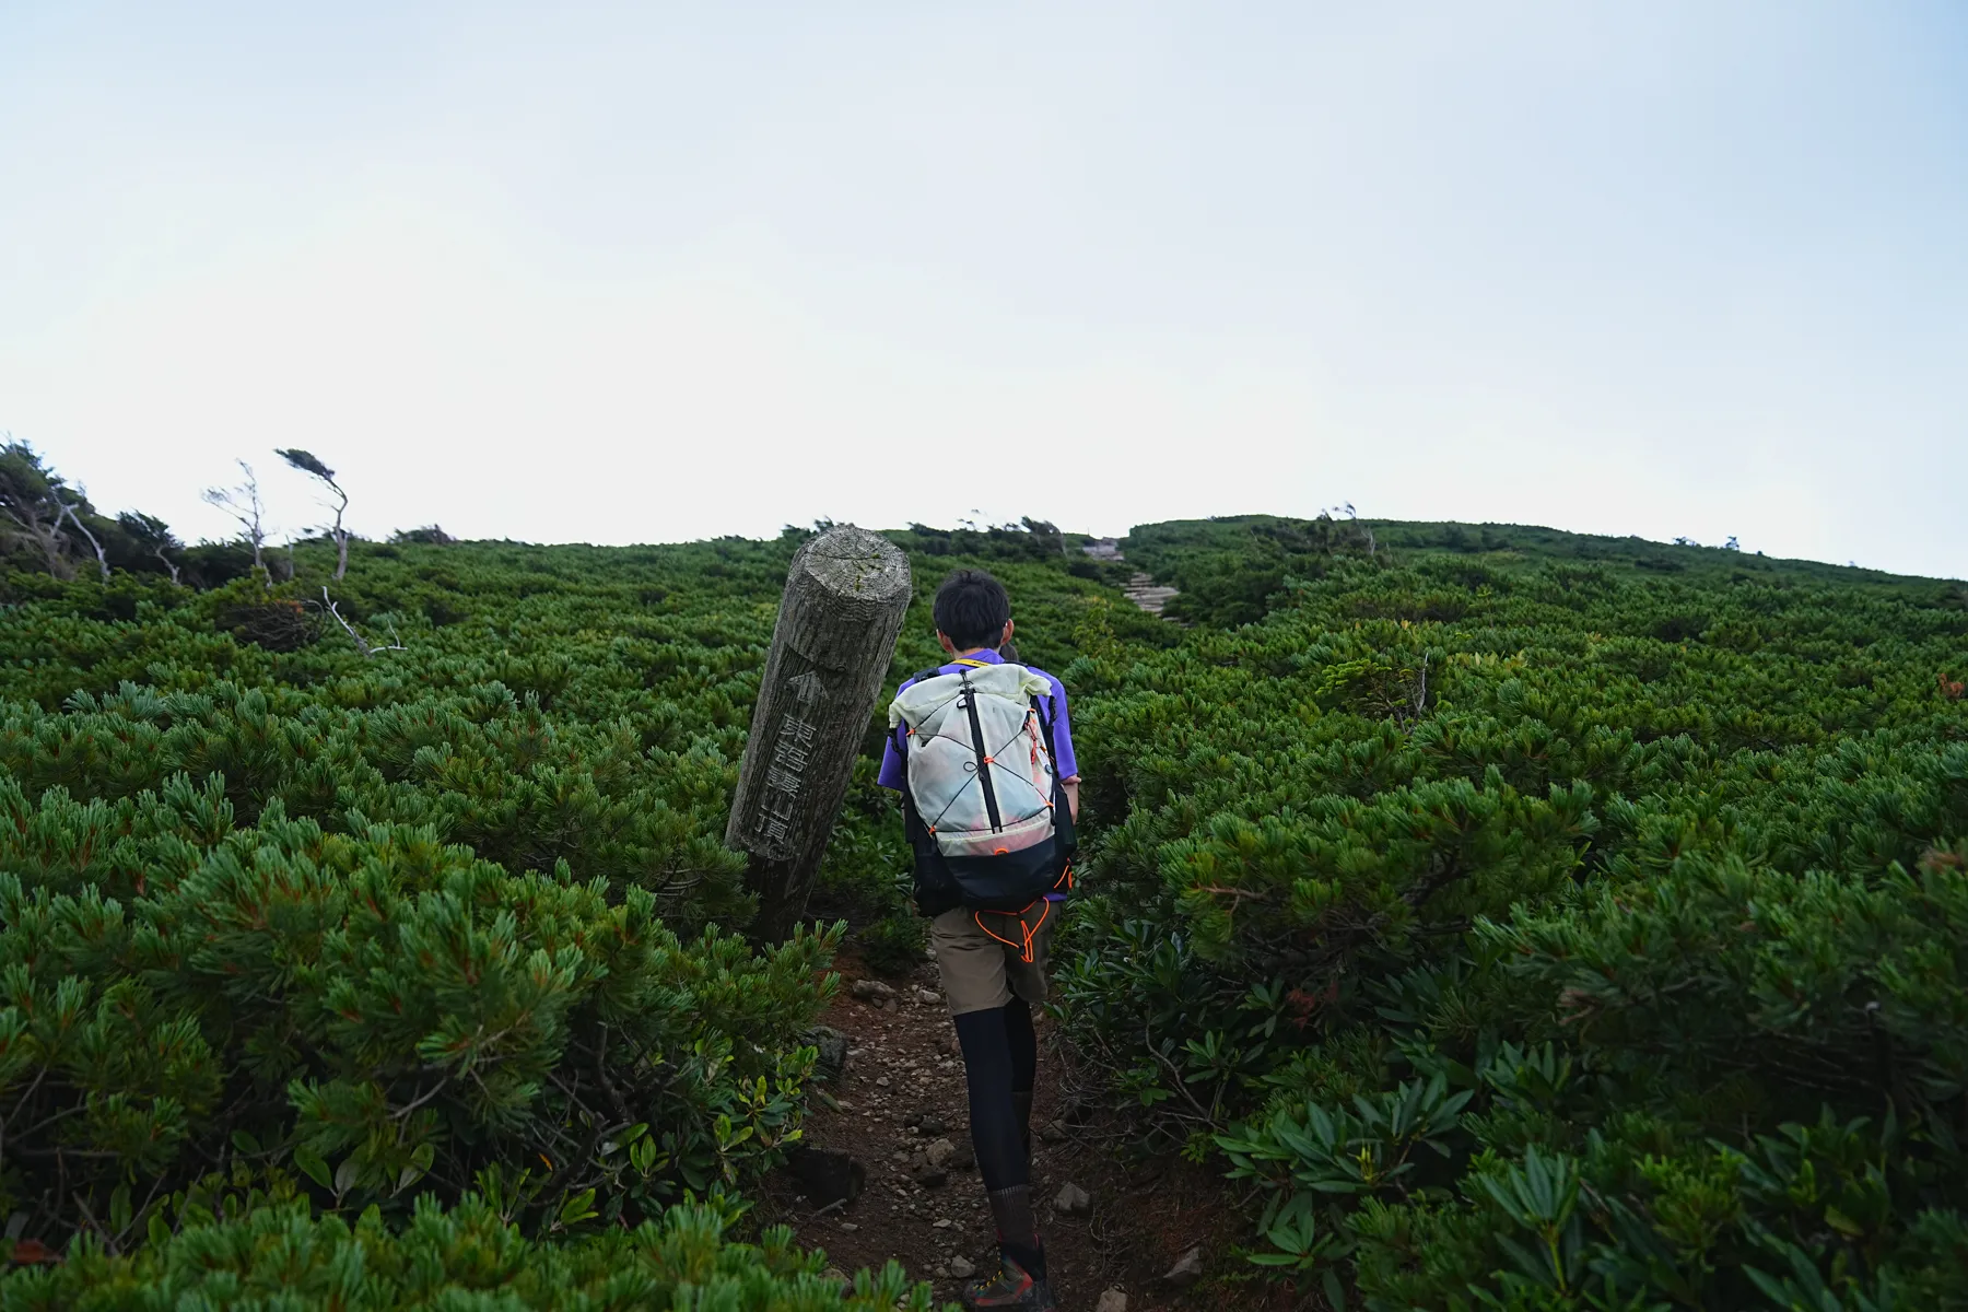
<path fill-rule="evenodd" d="M 218 826 L 211 793 L 175 793 Z M 89 810 L 51 793 L 35 818 L 75 834 Z M 541 1208 L 602 1190 L 634 1216 L 797 1139 L 829 934 L 685 940 L 646 889 L 277 801 L 252 830 L 152 838 L 177 865 L 126 838 L 148 877 L 122 897 L 0 873 L 0 1208 L 75 1225 L 246 1163 L 346 1210 L 520 1163 Z"/>

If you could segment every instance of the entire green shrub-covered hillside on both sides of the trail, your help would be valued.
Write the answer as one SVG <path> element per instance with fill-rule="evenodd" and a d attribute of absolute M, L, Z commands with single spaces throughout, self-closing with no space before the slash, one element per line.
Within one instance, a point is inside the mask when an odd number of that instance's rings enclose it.
<path fill-rule="evenodd" d="M 870 724 L 813 926 L 740 932 L 801 537 L 8 574 L 0 1302 L 836 1306 L 744 1198 L 830 954 L 921 926 Z M 1389 1310 L 1968 1306 L 1960 584 L 1500 525 L 893 539 L 892 683 L 984 565 L 1073 690 L 1063 1033 L 1256 1267 Z"/>

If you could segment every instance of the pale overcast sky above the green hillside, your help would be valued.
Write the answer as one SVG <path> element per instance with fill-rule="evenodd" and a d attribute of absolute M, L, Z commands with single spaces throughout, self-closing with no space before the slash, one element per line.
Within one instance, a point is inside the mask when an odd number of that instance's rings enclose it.
<path fill-rule="evenodd" d="M 0 431 L 187 537 L 1352 502 L 1968 574 L 1968 4 L 0 0 Z"/>

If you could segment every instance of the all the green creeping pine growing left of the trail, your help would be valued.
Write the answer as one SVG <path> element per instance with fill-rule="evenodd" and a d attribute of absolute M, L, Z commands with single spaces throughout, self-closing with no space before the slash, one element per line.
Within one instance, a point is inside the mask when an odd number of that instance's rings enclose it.
<path fill-rule="evenodd" d="M 913 950 L 872 755 L 815 924 L 740 936 L 724 820 L 799 537 L 8 576 L 0 1302 L 919 1298 L 720 1237 L 801 1135 L 836 915 Z M 988 543 L 1063 665 L 1045 631 L 1100 586 L 1057 535 Z M 939 578 L 895 679 L 937 655 Z"/>

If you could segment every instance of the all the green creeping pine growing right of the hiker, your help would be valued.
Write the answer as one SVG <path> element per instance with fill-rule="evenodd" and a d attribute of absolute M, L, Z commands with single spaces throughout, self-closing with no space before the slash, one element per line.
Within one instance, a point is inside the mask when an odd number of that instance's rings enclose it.
<path fill-rule="evenodd" d="M 1236 541 L 1161 549 L 1208 588 Z M 1248 1190 L 1260 1269 L 1389 1312 L 1968 1306 L 1968 612 L 1673 551 L 1330 555 L 1065 671 L 1069 1033 Z"/>

